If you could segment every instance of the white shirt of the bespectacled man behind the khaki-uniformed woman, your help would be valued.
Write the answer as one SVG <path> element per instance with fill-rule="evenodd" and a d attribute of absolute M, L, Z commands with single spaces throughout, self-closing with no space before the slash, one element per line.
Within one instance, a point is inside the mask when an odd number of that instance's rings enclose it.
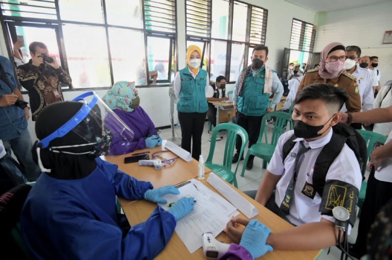
<path fill-rule="evenodd" d="M 352 73 L 357 78 L 359 95 L 361 96 L 362 111 L 374 108 L 374 92 L 369 71 L 355 65 L 357 68 Z"/>

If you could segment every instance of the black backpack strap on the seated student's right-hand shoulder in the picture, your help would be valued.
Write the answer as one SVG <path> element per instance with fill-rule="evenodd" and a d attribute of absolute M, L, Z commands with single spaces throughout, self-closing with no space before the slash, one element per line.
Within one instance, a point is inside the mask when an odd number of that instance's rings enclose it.
<path fill-rule="evenodd" d="M 313 170 L 313 186 L 322 197 L 329 167 L 345 146 L 347 137 L 332 133 L 331 140 L 318 154 Z"/>

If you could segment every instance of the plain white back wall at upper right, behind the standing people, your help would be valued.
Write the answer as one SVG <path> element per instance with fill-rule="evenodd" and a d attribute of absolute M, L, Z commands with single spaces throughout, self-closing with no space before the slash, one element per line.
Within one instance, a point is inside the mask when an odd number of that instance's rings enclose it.
<path fill-rule="evenodd" d="M 392 2 L 321 14 L 314 51 L 330 42 L 357 45 L 362 56 L 378 56 L 381 86 L 392 80 L 392 44 L 382 44 L 385 31 L 392 30 Z"/>

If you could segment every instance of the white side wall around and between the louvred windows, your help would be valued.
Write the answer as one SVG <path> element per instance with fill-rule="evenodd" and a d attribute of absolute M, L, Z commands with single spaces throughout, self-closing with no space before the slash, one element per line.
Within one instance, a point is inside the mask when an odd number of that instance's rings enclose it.
<path fill-rule="evenodd" d="M 261 6 L 268 10 L 266 46 L 269 48 L 267 65 L 272 69 L 280 69 L 283 49 L 289 47 L 292 18 L 297 18 L 313 23 L 315 13 L 307 9 L 293 5 L 284 0 L 242 0 L 255 6 Z M 261 3 L 260 3 L 261 2 Z M 177 22 L 178 22 L 178 50 L 179 68 L 185 66 L 186 39 L 185 39 L 185 0 L 177 0 Z M 234 24 L 235 26 L 235 24 Z M 1 30 L 1 28 L 0 28 Z M 0 33 L 2 33 L 0 31 Z M 0 54 L 8 57 L 6 43 L 0 37 Z M 234 85 L 227 86 L 228 91 L 233 90 Z M 106 90 L 95 90 L 102 97 Z M 169 118 L 169 95 L 168 87 L 140 88 L 140 106 L 149 114 L 156 127 L 170 125 Z M 71 100 L 83 93 L 82 91 L 65 91 L 65 100 Z M 23 95 L 28 101 L 28 95 Z M 177 122 L 177 112 L 175 112 Z M 33 140 L 36 140 L 34 122 L 29 120 L 29 131 Z"/>

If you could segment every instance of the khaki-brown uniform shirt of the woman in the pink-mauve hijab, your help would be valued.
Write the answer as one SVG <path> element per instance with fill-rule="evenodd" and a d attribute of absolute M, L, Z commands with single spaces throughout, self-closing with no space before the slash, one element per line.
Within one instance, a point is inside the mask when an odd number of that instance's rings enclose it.
<path fill-rule="evenodd" d="M 314 83 L 327 83 L 334 87 L 342 88 L 349 95 L 349 100 L 346 101 L 347 112 L 361 111 L 361 96 L 359 95 L 356 78 L 347 71 L 344 71 L 335 79 L 325 80 L 318 74 L 318 69 L 308 70 L 298 87 L 297 93 Z"/>

